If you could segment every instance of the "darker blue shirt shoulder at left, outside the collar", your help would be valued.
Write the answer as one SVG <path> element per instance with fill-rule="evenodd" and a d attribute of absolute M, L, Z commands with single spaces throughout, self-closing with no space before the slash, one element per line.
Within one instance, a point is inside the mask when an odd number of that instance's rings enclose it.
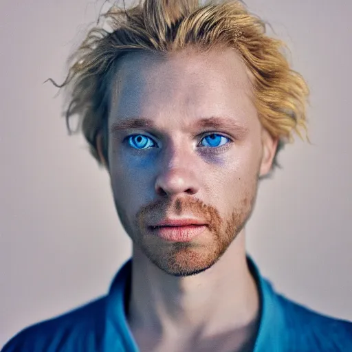
<path fill-rule="evenodd" d="M 104 330 L 105 297 L 17 333 L 1 352 L 99 351 Z"/>

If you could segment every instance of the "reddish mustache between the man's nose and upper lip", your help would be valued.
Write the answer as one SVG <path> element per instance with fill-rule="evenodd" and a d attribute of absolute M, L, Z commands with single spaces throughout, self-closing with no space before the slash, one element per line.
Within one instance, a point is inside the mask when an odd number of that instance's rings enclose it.
<path fill-rule="evenodd" d="M 213 206 L 197 198 L 155 199 L 137 212 L 137 223 L 145 226 L 166 217 L 195 217 L 209 224 L 210 229 L 219 226 L 221 217 Z"/>

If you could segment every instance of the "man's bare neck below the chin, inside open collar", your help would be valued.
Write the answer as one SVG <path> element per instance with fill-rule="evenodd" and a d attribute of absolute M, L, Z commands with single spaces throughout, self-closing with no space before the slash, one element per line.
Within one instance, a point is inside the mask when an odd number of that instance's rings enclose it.
<path fill-rule="evenodd" d="M 245 255 L 244 229 L 212 267 L 177 277 L 156 267 L 133 248 L 131 296 L 127 314 L 136 336 L 157 340 L 206 340 L 232 332 L 239 345 L 253 338 L 259 294 Z"/>

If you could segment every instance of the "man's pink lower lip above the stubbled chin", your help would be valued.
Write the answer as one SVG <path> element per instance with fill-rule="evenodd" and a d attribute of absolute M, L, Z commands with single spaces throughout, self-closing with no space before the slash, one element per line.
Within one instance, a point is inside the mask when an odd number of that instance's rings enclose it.
<path fill-rule="evenodd" d="M 151 231 L 166 241 L 190 242 L 204 232 L 206 228 L 206 225 L 160 226 L 151 228 Z"/>

